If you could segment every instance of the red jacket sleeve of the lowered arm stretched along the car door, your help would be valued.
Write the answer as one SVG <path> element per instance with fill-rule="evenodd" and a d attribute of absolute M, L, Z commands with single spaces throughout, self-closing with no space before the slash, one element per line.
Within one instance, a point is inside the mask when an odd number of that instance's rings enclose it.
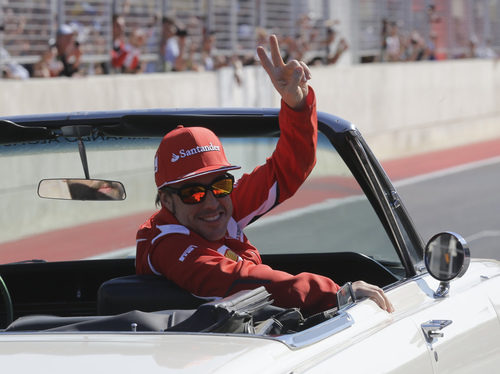
<path fill-rule="evenodd" d="M 256 261 L 251 254 L 239 255 L 241 259 L 234 261 L 201 241 L 188 243 L 182 235 L 172 235 L 153 249 L 150 260 L 158 273 L 197 296 L 229 296 L 264 286 L 275 305 L 299 307 L 306 315 L 336 305 L 340 287 L 331 279 L 311 273 L 291 275 Z"/>

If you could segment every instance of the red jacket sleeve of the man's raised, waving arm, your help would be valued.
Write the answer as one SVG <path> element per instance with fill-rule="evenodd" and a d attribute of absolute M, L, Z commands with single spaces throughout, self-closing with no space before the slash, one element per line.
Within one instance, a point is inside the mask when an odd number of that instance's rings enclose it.
<path fill-rule="evenodd" d="M 301 111 L 281 101 L 279 124 L 281 134 L 272 156 L 244 174 L 232 193 L 233 217 L 242 229 L 291 197 L 316 163 L 318 120 L 311 87 Z"/>

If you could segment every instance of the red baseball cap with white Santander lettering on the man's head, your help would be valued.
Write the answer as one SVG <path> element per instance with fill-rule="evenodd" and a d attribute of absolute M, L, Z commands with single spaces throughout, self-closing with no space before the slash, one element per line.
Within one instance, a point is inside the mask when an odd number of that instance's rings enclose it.
<path fill-rule="evenodd" d="M 178 126 L 165 135 L 156 151 L 158 188 L 219 171 L 240 169 L 231 165 L 222 144 L 204 127 Z"/>

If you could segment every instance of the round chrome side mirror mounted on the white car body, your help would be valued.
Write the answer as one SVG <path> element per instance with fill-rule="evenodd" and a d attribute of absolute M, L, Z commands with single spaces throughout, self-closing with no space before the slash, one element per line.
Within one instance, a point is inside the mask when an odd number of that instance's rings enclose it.
<path fill-rule="evenodd" d="M 469 268 L 469 247 L 460 235 L 442 232 L 427 243 L 424 261 L 429 274 L 441 281 L 434 296 L 445 297 L 450 290 L 450 281 L 464 275 Z"/>

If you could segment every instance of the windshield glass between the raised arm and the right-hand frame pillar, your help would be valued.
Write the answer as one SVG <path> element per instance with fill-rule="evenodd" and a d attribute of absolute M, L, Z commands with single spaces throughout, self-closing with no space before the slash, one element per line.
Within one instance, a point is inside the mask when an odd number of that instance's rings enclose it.
<path fill-rule="evenodd" d="M 245 232 L 264 254 L 358 252 L 399 262 L 361 187 L 321 134 L 317 163 L 304 185 Z"/>

